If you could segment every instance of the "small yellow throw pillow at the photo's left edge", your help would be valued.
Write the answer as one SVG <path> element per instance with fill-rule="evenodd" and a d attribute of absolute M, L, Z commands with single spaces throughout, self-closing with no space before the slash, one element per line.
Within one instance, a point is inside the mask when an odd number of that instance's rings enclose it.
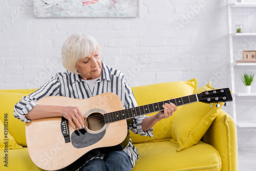
<path fill-rule="evenodd" d="M 0 150 L 23 148 L 18 145 L 11 134 L 9 134 L 7 117 L 6 120 L 4 120 L 4 123 L 5 125 L 0 121 Z"/>

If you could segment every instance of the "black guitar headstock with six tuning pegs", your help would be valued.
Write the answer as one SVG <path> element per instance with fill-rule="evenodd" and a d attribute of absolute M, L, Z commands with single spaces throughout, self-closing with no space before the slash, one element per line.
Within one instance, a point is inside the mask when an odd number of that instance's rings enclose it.
<path fill-rule="evenodd" d="M 229 88 L 211 91 L 205 90 L 205 92 L 197 94 L 197 96 L 198 100 L 204 103 L 225 102 L 226 104 L 227 101 L 233 100 Z"/>

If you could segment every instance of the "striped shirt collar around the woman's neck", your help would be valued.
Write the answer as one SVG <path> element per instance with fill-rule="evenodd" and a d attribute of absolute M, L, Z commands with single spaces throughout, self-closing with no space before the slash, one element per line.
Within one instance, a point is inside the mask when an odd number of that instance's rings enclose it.
<path fill-rule="evenodd" d="M 101 61 L 101 64 L 102 64 L 101 80 L 106 79 L 108 81 L 111 81 L 111 77 L 110 77 L 111 71 L 110 71 L 109 67 L 106 66 L 105 63 L 103 63 L 102 61 Z M 82 81 L 82 79 L 79 77 L 78 74 L 71 73 L 69 71 L 67 71 L 67 72 L 69 73 L 71 83 L 74 83 L 75 81 L 78 81 L 78 82 Z"/>

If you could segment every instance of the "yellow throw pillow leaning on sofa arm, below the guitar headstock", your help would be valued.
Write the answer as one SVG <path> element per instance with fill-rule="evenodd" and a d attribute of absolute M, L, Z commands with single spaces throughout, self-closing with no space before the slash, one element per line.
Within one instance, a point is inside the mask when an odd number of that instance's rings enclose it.
<path fill-rule="evenodd" d="M 204 92 L 205 89 L 212 90 L 210 82 L 196 90 L 195 94 Z M 208 103 L 196 102 L 182 106 L 172 125 L 173 139 L 171 141 L 177 141 L 177 152 L 199 142 L 219 114 L 222 105 L 223 102 L 217 108 L 216 103 L 212 103 L 210 108 Z"/>

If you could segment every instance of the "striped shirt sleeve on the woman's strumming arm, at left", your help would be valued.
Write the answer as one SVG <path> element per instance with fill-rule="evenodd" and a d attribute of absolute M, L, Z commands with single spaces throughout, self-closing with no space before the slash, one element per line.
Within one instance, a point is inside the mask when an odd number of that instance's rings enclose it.
<path fill-rule="evenodd" d="M 44 97 L 58 95 L 58 88 L 59 81 L 58 75 L 56 74 L 56 76 L 46 82 L 40 89 L 28 96 L 23 97 L 15 104 L 13 112 L 14 117 L 23 122 L 30 122 L 31 120 L 27 119 L 25 115 L 38 104 L 36 101 Z"/>

